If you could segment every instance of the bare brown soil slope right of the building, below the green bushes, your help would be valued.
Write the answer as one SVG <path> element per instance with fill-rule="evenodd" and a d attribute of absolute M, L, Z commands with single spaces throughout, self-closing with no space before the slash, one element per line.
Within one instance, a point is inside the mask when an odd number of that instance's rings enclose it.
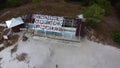
<path fill-rule="evenodd" d="M 106 16 L 104 20 L 97 25 L 96 29 L 89 30 L 87 32 L 87 36 L 90 40 L 98 43 L 108 44 L 120 48 L 120 45 L 112 40 L 111 35 L 114 30 L 120 30 L 120 20 L 116 10 L 113 10 L 111 15 Z M 91 36 L 94 36 L 95 38 L 91 39 Z"/>

